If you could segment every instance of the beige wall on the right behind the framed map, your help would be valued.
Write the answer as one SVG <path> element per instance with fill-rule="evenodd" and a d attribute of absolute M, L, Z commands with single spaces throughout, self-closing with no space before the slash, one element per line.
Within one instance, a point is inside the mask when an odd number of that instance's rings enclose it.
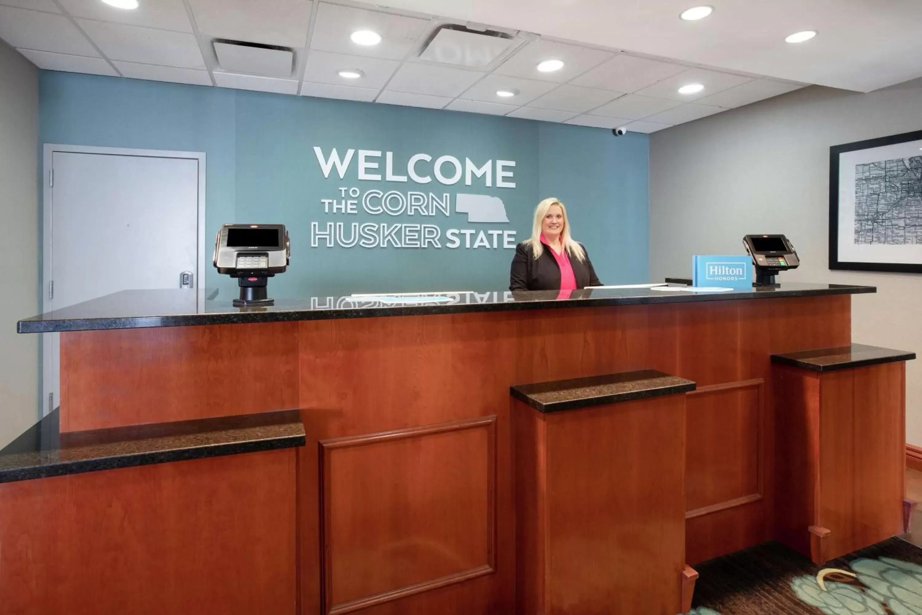
<path fill-rule="evenodd" d="M 852 339 L 922 356 L 922 274 L 828 269 L 829 148 L 922 129 L 922 79 L 858 94 L 810 87 L 655 133 L 651 279 L 691 276 L 692 254 L 745 254 L 783 232 L 802 265 L 782 281 L 876 286 L 852 299 Z M 922 445 L 922 359 L 906 364 L 906 440 Z"/>

